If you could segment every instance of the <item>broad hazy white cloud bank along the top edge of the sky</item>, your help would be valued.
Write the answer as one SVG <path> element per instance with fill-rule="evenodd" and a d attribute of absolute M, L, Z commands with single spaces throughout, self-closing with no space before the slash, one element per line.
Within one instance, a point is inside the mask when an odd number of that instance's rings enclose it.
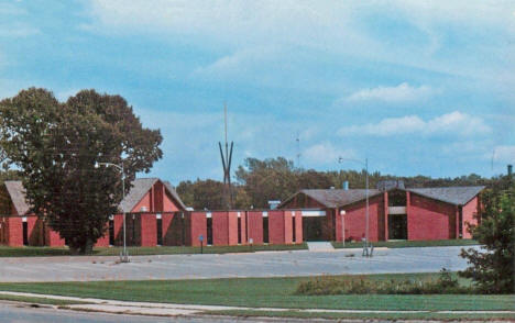
<path fill-rule="evenodd" d="M 89 13 L 94 18 L 83 30 L 98 33 L 152 34 L 164 42 L 189 43 L 202 48 L 215 49 L 222 55 L 213 66 L 204 66 L 197 73 L 219 70 L 229 65 L 255 68 L 254 59 L 240 60 L 241 51 L 263 46 L 288 48 L 283 58 L 283 66 L 288 58 L 298 54 L 298 48 L 315 48 L 332 55 L 349 55 L 373 63 L 404 65 L 413 68 L 473 77 L 490 80 L 498 86 L 515 82 L 506 60 L 513 52 L 509 42 L 498 43 L 492 37 L 475 38 L 472 48 L 479 49 L 470 55 L 470 49 L 456 53 L 454 48 L 441 55 L 442 46 L 450 46 L 447 34 L 459 29 L 463 42 L 472 37 L 467 33 L 489 30 L 496 38 L 515 35 L 515 21 L 511 12 L 515 9 L 509 1 L 407 1 L 387 2 L 363 1 L 200 1 L 200 0 L 92 0 Z M 368 21 L 376 16 L 391 18 L 408 25 L 407 32 L 416 31 L 419 36 L 408 38 L 401 46 L 395 36 L 371 33 Z M 506 38 L 507 40 L 507 38 Z M 452 43 L 452 42 L 451 42 Z M 468 48 L 468 46 L 467 46 Z M 473 51 L 473 49 L 472 49 Z M 231 53 L 231 54 L 227 54 Z M 263 55 L 276 55 L 266 52 Z M 276 56 L 274 56 L 276 57 Z M 481 64 L 489 57 L 492 64 Z M 276 57 L 277 58 L 277 57 Z M 311 60 L 319 58 L 313 55 Z M 237 62 L 234 62 L 237 60 Z M 305 66 L 305 65 L 304 65 Z M 252 78 L 252 71 L 250 70 Z M 500 80 L 500 74 L 506 76 Z M 231 75 L 232 76 L 232 75 Z M 244 77 L 244 76 L 243 76 Z M 497 86 L 498 85 L 498 86 Z M 504 88 L 504 86 L 503 86 Z M 507 92 L 507 91 L 506 91 Z"/>

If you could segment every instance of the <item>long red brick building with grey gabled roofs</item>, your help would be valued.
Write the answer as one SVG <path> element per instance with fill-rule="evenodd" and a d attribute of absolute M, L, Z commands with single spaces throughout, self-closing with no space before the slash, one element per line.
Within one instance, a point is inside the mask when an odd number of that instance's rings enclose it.
<path fill-rule="evenodd" d="M 470 238 L 484 187 L 404 188 L 393 182 L 369 190 L 369 238 Z M 0 203 L 0 244 L 64 246 L 65 241 L 29 212 L 21 181 L 6 181 Z M 363 189 L 307 189 L 275 210 L 190 211 L 158 178 L 141 178 L 120 203 L 129 246 L 296 244 L 360 241 L 365 234 Z M 96 246 L 122 244 L 123 213 L 106 223 Z"/>

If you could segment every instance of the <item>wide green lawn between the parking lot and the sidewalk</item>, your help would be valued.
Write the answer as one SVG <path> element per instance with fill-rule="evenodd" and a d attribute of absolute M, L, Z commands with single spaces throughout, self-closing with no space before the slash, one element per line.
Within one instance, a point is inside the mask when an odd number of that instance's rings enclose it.
<path fill-rule="evenodd" d="M 437 279 L 438 274 L 370 275 L 370 279 Z M 296 296 L 309 277 L 0 283 L 0 290 L 125 301 L 352 310 L 515 310 L 515 297 L 482 294 Z M 469 283 L 463 280 L 461 283 Z"/>

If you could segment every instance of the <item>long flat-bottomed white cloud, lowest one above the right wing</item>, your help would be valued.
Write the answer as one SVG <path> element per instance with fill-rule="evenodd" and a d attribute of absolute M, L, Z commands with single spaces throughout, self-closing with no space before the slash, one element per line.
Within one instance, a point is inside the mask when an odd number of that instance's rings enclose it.
<path fill-rule="evenodd" d="M 387 118 L 377 123 L 341 127 L 338 134 L 373 136 L 402 134 L 469 136 L 490 132 L 491 127 L 486 125 L 481 118 L 454 111 L 427 121 L 424 121 L 417 115 Z"/>

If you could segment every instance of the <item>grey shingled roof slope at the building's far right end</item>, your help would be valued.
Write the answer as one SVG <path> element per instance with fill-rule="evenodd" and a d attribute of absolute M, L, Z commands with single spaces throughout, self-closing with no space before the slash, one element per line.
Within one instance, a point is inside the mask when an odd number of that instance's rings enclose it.
<path fill-rule="evenodd" d="M 454 205 L 464 205 L 472 200 L 484 186 L 461 186 L 461 187 L 435 187 L 435 188 L 412 188 L 410 192 L 419 196 L 443 201 Z"/>

